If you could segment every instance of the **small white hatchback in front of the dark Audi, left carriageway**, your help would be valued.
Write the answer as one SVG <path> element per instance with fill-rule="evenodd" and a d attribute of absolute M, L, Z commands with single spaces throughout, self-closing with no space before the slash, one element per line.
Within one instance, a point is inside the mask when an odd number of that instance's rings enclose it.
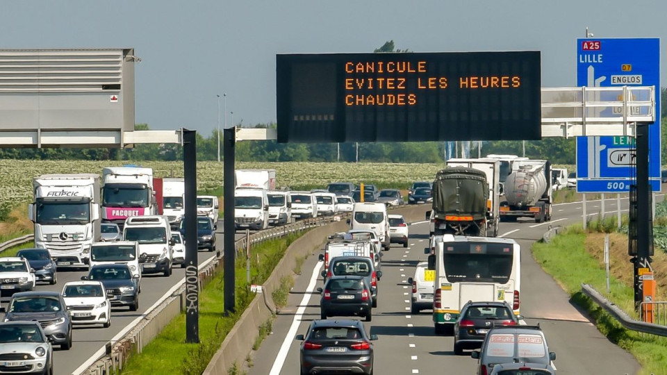
<path fill-rule="evenodd" d="M 72 324 L 111 326 L 111 302 L 100 281 L 70 281 L 61 294 L 72 314 Z"/>

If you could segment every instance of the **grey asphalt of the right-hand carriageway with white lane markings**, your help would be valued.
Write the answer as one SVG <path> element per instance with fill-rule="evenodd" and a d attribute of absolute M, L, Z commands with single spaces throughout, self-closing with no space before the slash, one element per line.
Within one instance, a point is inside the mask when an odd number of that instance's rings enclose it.
<path fill-rule="evenodd" d="M 627 199 L 621 205 L 627 213 Z M 616 215 L 613 210 L 616 199 L 608 199 L 607 215 Z M 599 212 L 600 201 L 588 201 L 587 216 L 597 216 Z M 545 331 L 551 351 L 557 354 L 554 365 L 559 374 L 635 374 L 639 363 L 609 342 L 570 304 L 566 293 L 541 270 L 530 253 L 531 244 L 542 237 L 548 226 L 577 222 L 582 222 L 581 202 L 554 205 L 551 222 L 536 224 L 520 219 L 500 224 L 500 236 L 514 238 L 522 247 L 521 314 L 527 324 L 539 323 Z M 464 356 L 454 356 L 452 337 L 434 335 L 430 310 L 419 315 L 410 313 L 411 286 L 407 278 L 413 276 L 418 260 L 427 258 L 424 248 L 428 246 L 428 231 L 425 222 L 411 225 L 409 248 L 393 245 L 382 258 L 384 274 L 378 286 L 378 308 L 373 311 L 372 322 L 364 323 L 370 333 L 379 336 L 374 342 L 375 374 L 475 374 L 477 371 L 477 360 L 470 358 L 469 351 Z M 299 373 L 301 342 L 294 340 L 294 335 L 305 334 L 309 322 L 320 316 L 320 295 L 312 293 L 314 288 L 322 286 L 319 276 L 322 263 L 317 258 L 311 256 L 304 263 L 302 275 L 290 294 L 289 307 L 281 310 L 273 334 L 254 354 L 250 375 Z M 317 281 L 312 282 L 315 278 Z M 298 306 L 303 314 L 295 317 Z M 290 326 L 294 326 L 291 331 Z"/>

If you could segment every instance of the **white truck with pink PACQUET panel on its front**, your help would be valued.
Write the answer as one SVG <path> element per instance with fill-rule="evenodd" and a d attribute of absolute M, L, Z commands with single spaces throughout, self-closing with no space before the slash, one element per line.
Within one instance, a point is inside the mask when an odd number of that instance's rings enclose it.
<path fill-rule="evenodd" d="M 141 167 L 102 169 L 102 222 L 117 224 L 122 230 L 128 217 L 157 213 L 153 169 Z"/>

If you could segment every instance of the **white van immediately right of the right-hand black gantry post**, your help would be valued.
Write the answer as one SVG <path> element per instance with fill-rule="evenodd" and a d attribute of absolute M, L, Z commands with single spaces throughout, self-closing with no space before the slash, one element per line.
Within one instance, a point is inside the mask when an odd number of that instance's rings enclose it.
<path fill-rule="evenodd" d="M 265 189 L 234 190 L 234 228 L 261 231 L 269 227 L 269 197 Z"/>

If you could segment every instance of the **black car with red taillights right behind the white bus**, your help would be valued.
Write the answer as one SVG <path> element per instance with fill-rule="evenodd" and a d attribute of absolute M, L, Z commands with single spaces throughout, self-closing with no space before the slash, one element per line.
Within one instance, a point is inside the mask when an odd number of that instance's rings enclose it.
<path fill-rule="evenodd" d="M 512 306 L 507 302 L 468 301 L 461 308 L 461 315 L 454 323 L 454 354 L 463 354 L 463 349 L 477 349 L 494 326 L 516 326 L 519 324 Z"/>

